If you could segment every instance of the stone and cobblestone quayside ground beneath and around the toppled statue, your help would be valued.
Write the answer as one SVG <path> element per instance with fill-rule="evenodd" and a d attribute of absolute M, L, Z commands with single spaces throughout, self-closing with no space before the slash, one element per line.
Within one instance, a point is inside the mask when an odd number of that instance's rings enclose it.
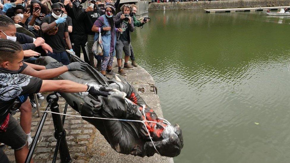
<path fill-rule="evenodd" d="M 116 61 L 114 62 L 113 70 L 117 72 Z M 154 80 L 153 78 L 142 68 L 137 67 L 134 70 L 125 70 L 127 76 L 125 77 L 136 90 L 140 93 L 147 105 L 152 107 L 158 116 L 163 117 L 162 110 L 160 107 L 159 97 L 154 93 Z M 48 95 L 45 94 L 45 95 Z M 45 110 L 47 102 L 40 100 L 41 102 L 41 113 Z M 59 110 L 63 113 L 65 100 L 59 98 Z M 68 106 L 67 114 L 80 115 L 78 112 Z M 19 113 L 15 114 L 14 117 L 19 121 Z M 32 127 L 31 135 L 34 136 L 39 124 L 40 118 L 37 112 L 32 115 Z M 155 154 L 152 157 L 138 157 L 132 155 L 124 155 L 114 151 L 109 143 L 104 139 L 100 132 L 91 124 L 84 121 L 81 118 L 67 116 L 64 129 L 67 132 L 66 140 L 70 150 L 70 156 L 73 158 L 73 162 L 173 162 L 172 158 L 161 157 Z M 41 136 L 43 140 L 39 143 L 34 152 L 35 162 L 51 162 L 53 158 L 53 152 L 56 146 L 56 139 L 53 136 L 54 127 L 51 114 L 48 114 L 45 124 L 43 126 Z M 7 147 L 5 150 L 10 161 L 15 162 L 14 151 Z M 59 156 L 58 156 L 59 159 Z M 60 162 L 58 160 L 58 162 Z"/>

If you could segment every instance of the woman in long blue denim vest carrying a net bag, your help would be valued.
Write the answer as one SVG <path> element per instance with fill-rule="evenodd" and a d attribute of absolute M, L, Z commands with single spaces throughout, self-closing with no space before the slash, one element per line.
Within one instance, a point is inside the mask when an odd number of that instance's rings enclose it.
<path fill-rule="evenodd" d="M 96 32 L 95 34 L 95 40 L 99 37 L 99 30 L 101 33 L 104 33 L 102 36 L 102 42 L 103 42 L 103 59 L 101 62 L 101 73 L 106 76 L 106 70 L 107 74 L 109 75 L 115 75 L 112 71 L 112 65 L 113 65 L 113 59 L 116 54 L 116 31 L 121 32 L 122 29 L 116 29 L 114 24 L 114 18 L 113 15 L 115 14 L 115 7 L 113 4 L 106 4 L 105 8 L 105 15 L 100 16 L 96 22 L 94 23 L 94 26 L 92 27 L 92 31 Z"/>

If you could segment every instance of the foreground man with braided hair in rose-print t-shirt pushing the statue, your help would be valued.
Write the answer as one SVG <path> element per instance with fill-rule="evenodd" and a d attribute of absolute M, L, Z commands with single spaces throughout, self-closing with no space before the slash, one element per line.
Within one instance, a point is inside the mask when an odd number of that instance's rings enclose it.
<path fill-rule="evenodd" d="M 41 80 L 37 77 L 20 74 L 23 66 L 23 50 L 11 40 L 0 39 L 0 142 L 14 149 L 16 162 L 25 162 L 28 154 L 27 135 L 9 113 L 18 96 L 38 92 L 61 91 L 67 93 L 88 92 L 94 97 L 110 94 L 98 91 L 93 86 L 75 83 L 70 80 Z M 58 67 L 57 71 L 68 71 L 70 66 Z M 1 150 L 0 150 L 1 151 Z M 0 154 L 4 154 L 3 151 Z M 7 157 L 0 156 L 0 162 Z"/>

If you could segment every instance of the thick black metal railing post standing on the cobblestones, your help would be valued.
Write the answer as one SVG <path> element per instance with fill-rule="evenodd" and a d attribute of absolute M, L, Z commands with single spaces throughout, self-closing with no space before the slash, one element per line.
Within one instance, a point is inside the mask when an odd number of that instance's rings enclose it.
<path fill-rule="evenodd" d="M 59 105 L 57 104 L 59 97 L 55 94 L 52 96 L 49 96 L 53 100 L 53 103 L 51 104 L 51 111 L 59 113 Z M 72 162 L 72 159 L 70 157 L 70 152 L 67 147 L 67 141 L 65 139 L 66 132 L 64 130 L 64 127 L 62 125 L 62 118 L 60 117 L 59 114 L 52 114 L 52 120 L 53 120 L 53 126 L 55 129 L 54 132 L 54 137 L 57 140 L 57 145 L 54 151 L 54 158 L 53 162 L 56 161 L 56 155 L 57 155 L 57 150 L 59 147 L 59 156 L 62 162 Z"/>

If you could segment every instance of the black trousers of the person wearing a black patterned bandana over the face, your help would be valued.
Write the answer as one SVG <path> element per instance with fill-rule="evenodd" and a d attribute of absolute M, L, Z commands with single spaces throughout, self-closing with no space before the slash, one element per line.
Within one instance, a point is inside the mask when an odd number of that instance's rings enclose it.
<path fill-rule="evenodd" d="M 70 41 L 73 45 L 73 51 L 75 55 L 81 58 L 81 49 L 83 50 L 83 58 L 86 63 L 90 64 L 89 58 L 86 54 L 85 46 L 88 39 L 87 34 L 72 34 L 70 36 Z"/>

